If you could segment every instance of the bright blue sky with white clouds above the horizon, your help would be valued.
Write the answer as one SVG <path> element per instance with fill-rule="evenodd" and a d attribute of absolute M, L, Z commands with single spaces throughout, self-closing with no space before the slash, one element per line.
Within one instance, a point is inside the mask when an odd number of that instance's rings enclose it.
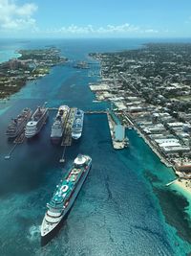
<path fill-rule="evenodd" d="M 191 37 L 191 0 L 0 0 L 4 37 Z"/>

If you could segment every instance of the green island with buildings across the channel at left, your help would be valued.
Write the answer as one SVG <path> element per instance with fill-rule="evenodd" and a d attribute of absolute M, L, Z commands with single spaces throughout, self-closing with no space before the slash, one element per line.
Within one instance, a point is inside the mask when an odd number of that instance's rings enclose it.
<path fill-rule="evenodd" d="M 7 99 L 19 91 L 27 81 L 46 76 L 54 65 L 65 63 L 68 58 L 60 57 L 55 47 L 46 49 L 20 50 L 19 58 L 0 64 L 0 99 Z"/>

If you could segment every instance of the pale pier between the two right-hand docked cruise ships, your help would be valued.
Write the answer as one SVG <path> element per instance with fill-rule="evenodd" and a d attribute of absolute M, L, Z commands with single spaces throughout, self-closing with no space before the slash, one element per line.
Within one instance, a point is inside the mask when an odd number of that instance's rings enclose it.
<path fill-rule="evenodd" d="M 75 107 L 70 109 L 70 113 L 68 115 L 68 120 L 66 121 L 66 126 L 64 129 L 63 140 L 61 146 L 71 146 L 72 145 L 72 126 L 74 122 L 74 113 L 76 111 Z"/>

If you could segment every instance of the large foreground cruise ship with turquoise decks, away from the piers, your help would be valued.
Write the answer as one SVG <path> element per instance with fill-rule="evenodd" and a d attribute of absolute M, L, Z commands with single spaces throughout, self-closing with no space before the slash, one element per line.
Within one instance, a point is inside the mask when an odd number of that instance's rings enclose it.
<path fill-rule="evenodd" d="M 56 186 L 53 198 L 47 203 L 48 211 L 41 225 L 41 238 L 45 239 L 53 234 L 54 228 L 71 209 L 82 184 L 92 166 L 92 158 L 78 154 L 72 167 Z"/>

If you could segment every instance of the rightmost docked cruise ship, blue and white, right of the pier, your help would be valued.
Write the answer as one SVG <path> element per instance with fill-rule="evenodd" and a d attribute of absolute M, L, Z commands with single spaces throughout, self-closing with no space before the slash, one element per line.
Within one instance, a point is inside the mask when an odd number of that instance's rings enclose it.
<path fill-rule="evenodd" d="M 84 111 L 77 109 L 74 115 L 74 123 L 72 127 L 72 137 L 77 140 L 81 137 L 83 129 Z"/>

